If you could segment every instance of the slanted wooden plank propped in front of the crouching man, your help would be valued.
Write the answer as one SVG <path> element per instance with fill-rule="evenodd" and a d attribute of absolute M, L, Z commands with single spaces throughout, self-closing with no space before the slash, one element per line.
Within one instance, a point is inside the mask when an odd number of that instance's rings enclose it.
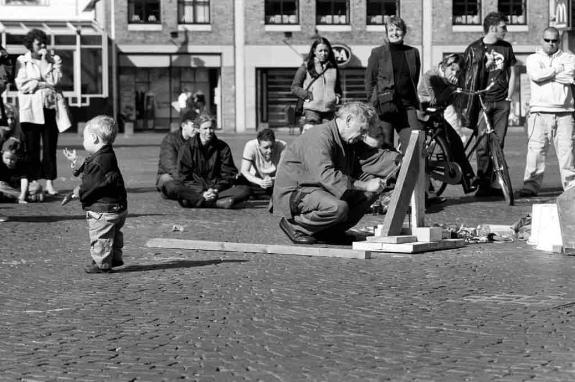
<path fill-rule="evenodd" d="M 411 195 L 417 178 L 419 177 L 419 131 L 412 131 L 409 144 L 401 162 L 401 169 L 397 177 L 392 200 L 389 202 L 388 212 L 385 214 L 381 236 L 397 236 L 401 234 L 401 227 L 405 220 Z"/>

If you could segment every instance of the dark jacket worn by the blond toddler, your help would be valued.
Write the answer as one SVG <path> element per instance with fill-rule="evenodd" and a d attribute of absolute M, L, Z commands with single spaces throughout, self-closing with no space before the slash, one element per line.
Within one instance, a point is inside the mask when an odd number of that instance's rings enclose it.
<path fill-rule="evenodd" d="M 85 211 L 121 212 L 128 208 L 124 179 L 112 146 L 107 144 L 86 158 L 74 171 L 74 176 L 79 175 L 79 196 Z"/>

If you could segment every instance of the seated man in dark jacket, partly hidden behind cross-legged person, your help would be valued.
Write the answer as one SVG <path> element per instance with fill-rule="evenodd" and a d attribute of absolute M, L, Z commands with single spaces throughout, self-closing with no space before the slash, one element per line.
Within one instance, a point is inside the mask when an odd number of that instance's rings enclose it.
<path fill-rule="evenodd" d="M 194 126 L 194 121 L 185 119 L 177 131 L 168 133 L 162 140 L 156 189 L 164 199 L 178 200 L 178 185 L 175 181 L 178 171 L 178 151 L 182 144 L 196 135 L 197 132 L 198 129 Z"/>

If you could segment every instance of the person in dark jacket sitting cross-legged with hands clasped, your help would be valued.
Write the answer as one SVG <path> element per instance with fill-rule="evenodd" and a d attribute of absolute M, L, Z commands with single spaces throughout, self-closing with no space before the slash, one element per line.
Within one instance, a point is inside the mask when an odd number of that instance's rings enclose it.
<path fill-rule="evenodd" d="M 232 208 L 250 197 L 250 188 L 234 186 L 237 168 L 227 143 L 214 133 L 214 119 L 201 113 L 196 136 L 178 154 L 178 200 L 182 207 Z"/>

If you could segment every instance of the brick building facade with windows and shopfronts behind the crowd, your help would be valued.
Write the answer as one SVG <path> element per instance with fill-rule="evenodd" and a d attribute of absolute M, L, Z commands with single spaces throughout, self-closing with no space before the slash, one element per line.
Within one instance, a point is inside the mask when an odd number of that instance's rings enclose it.
<path fill-rule="evenodd" d="M 0 21 L 29 18 L 30 13 L 5 12 L 16 9 L 18 1 L 51 0 L 0 0 Z M 568 0 L 78 0 L 76 8 L 91 14 L 109 41 L 101 68 L 109 77 L 104 85 L 108 93 L 99 94 L 99 102 L 95 97 L 91 105 L 98 106 L 85 114 L 90 117 L 105 105 L 136 130 L 174 128 L 179 121 L 177 98 L 187 87 L 206 95 L 207 108 L 224 131 L 285 126 L 290 123 L 287 108 L 295 102 L 290 94 L 293 75 L 317 34 L 339 49 L 344 101 L 364 100 L 367 59 L 384 39 L 383 24 L 390 14 L 407 23 L 405 41 L 420 50 L 422 69 L 427 70 L 444 55 L 463 52 L 482 37 L 483 17 L 500 9 L 509 14 L 506 40 L 519 61 L 511 122 L 520 124 L 529 98 L 525 59 L 535 51 L 561 2 L 571 4 Z M 41 12 L 36 13 L 33 19 L 41 19 Z M 0 32 L 3 41 L 11 41 L 12 30 Z M 569 33 L 563 36 L 564 49 L 570 44 Z M 15 93 L 12 89 L 7 94 Z"/>

